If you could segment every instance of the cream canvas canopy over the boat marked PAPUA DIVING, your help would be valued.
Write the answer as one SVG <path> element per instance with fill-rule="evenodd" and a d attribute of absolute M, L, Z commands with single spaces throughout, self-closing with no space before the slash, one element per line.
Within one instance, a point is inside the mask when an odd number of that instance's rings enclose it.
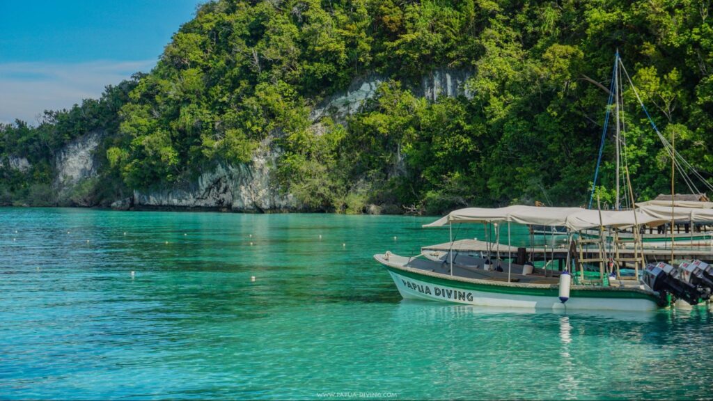
<path fill-rule="evenodd" d="M 669 215 L 670 216 L 670 215 Z M 669 217 L 670 218 L 670 217 Z M 511 222 L 527 225 L 559 225 L 570 230 L 584 230 L 600 225 L 606 227 L 627 227 L 648 224 L 662 220 L 660 214 L 645 213 L 644 210 L 588 210 L 582 208 L 548 208 L 515 205 L 506 208 L 465 208 L 453 210 L 448 215 L 426 224 L 424 227 L 438 227 L 449 223 L 500 223 Z"/>

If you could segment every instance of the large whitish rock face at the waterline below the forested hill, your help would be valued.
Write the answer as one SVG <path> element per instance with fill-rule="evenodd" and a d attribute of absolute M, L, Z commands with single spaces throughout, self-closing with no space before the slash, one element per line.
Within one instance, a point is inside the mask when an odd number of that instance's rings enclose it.
<path fill-rule="evenodd" d="M 280 192 L 275 178 L 279 153 L 264 142 L 252 163 L 218 165 L 202 173 L 195 183 L 160 191 L 134 191 L 133 205 L 145 207 L 220 208 L 236 212 L 298 210 L 294 197 Z M 116 204 L 116 208 L 125 205 Z"/>

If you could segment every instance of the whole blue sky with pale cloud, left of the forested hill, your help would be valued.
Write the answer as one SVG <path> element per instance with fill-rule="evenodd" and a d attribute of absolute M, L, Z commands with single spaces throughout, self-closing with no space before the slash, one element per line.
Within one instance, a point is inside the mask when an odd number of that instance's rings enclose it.
<path fill-rule="evenodd" d="M 0 122 L 98 97 L 152 68 L 203 0 L 0 0 Z"/>

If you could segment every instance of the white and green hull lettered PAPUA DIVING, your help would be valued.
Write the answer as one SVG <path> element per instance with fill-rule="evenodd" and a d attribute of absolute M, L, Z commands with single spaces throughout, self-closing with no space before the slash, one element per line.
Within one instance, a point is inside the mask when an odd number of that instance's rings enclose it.
<path fill-rule="evenodd" d="M 524 286 L 481 284 L 434 277 L 414 269 L 386 265 L 401 296 L 406 299 L 433 300 L 479 306 L 551 310 L 623 310 L 643 311 L 659 308 L 655 298 L 634 291 L 573 289 L 566 305 L 558 298 L 557 286 L 527 288 Z"/>

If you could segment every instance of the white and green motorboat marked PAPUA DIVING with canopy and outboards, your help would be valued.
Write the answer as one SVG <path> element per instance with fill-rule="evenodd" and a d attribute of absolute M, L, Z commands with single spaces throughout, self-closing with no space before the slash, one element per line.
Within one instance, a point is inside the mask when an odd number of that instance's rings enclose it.
<path fill-rule="evenodd" d="M 689 210 L 678 210 L 687 213 Z M 713 210 L 699 209 L 692 213 L 694 221 L 713 218 Z M 644 255 L 622 258 L 603 248 L 599 239 L 578 238 L 575 232 L 599 228 L 638 227 L 659 224 L 670 218 L 670 210 L 646 206 L 636 210 L 587 210 L 581 208 L 548 208 L 525 205 L 507 208 L 466 208 L 454 210 L 425 227 L 440 227 L 453 223 L 562 225 L 568 228 L 568 245 L 562 270 L 528 268 L 516 263 L 516 250 L 510 243 L 485 243 L 488 251 L 456 253 L 456 242 L 449 249 L 424 247 L 414 257 L 389 251 L 374 255 L 394 280 L 406 299 L 435 300 L 448 303 L 496 306 L 505 308 L 619 310 L 645 311 L 665 308 L 677 300 L 690 305 L 705 303 L 713 293 L 713 268 L 689 276 L 684 268 L 671 265 L 645 264 Z M 461 240 L 462 241 L 462 240 Z M 472 241 L 472 240 L 471 240 Z M 509 240 L 508 240 L 509 242 Z M 462 242 L 461 242 L 462 243 Z M 477 241 L 476 241 L 477 243 Z M 499 258 L 491 261 L 491 250 L 498 248 Z M 539 251 L 538 251 L 539 252 Z M 632 251 L 629 251 L 632 253 Z M 563 260 L 563 258 L 552 260 Z M 532 257 L 533 255 L 530 255 Z M 544 258 L 548 257 L 544 253 Z M 629 255 L 631 256 L 631 255 Z M 633 275 L 622 274 L 622 262 L 633 263 Z M 702 263 L 702 262 L 701 262 Z M 598 265 L 598 271 L 592 266 Z M 546 266 L 546 265 L 545 265 Z M 707 276 L 706 274 L 709 274 Z"/>

